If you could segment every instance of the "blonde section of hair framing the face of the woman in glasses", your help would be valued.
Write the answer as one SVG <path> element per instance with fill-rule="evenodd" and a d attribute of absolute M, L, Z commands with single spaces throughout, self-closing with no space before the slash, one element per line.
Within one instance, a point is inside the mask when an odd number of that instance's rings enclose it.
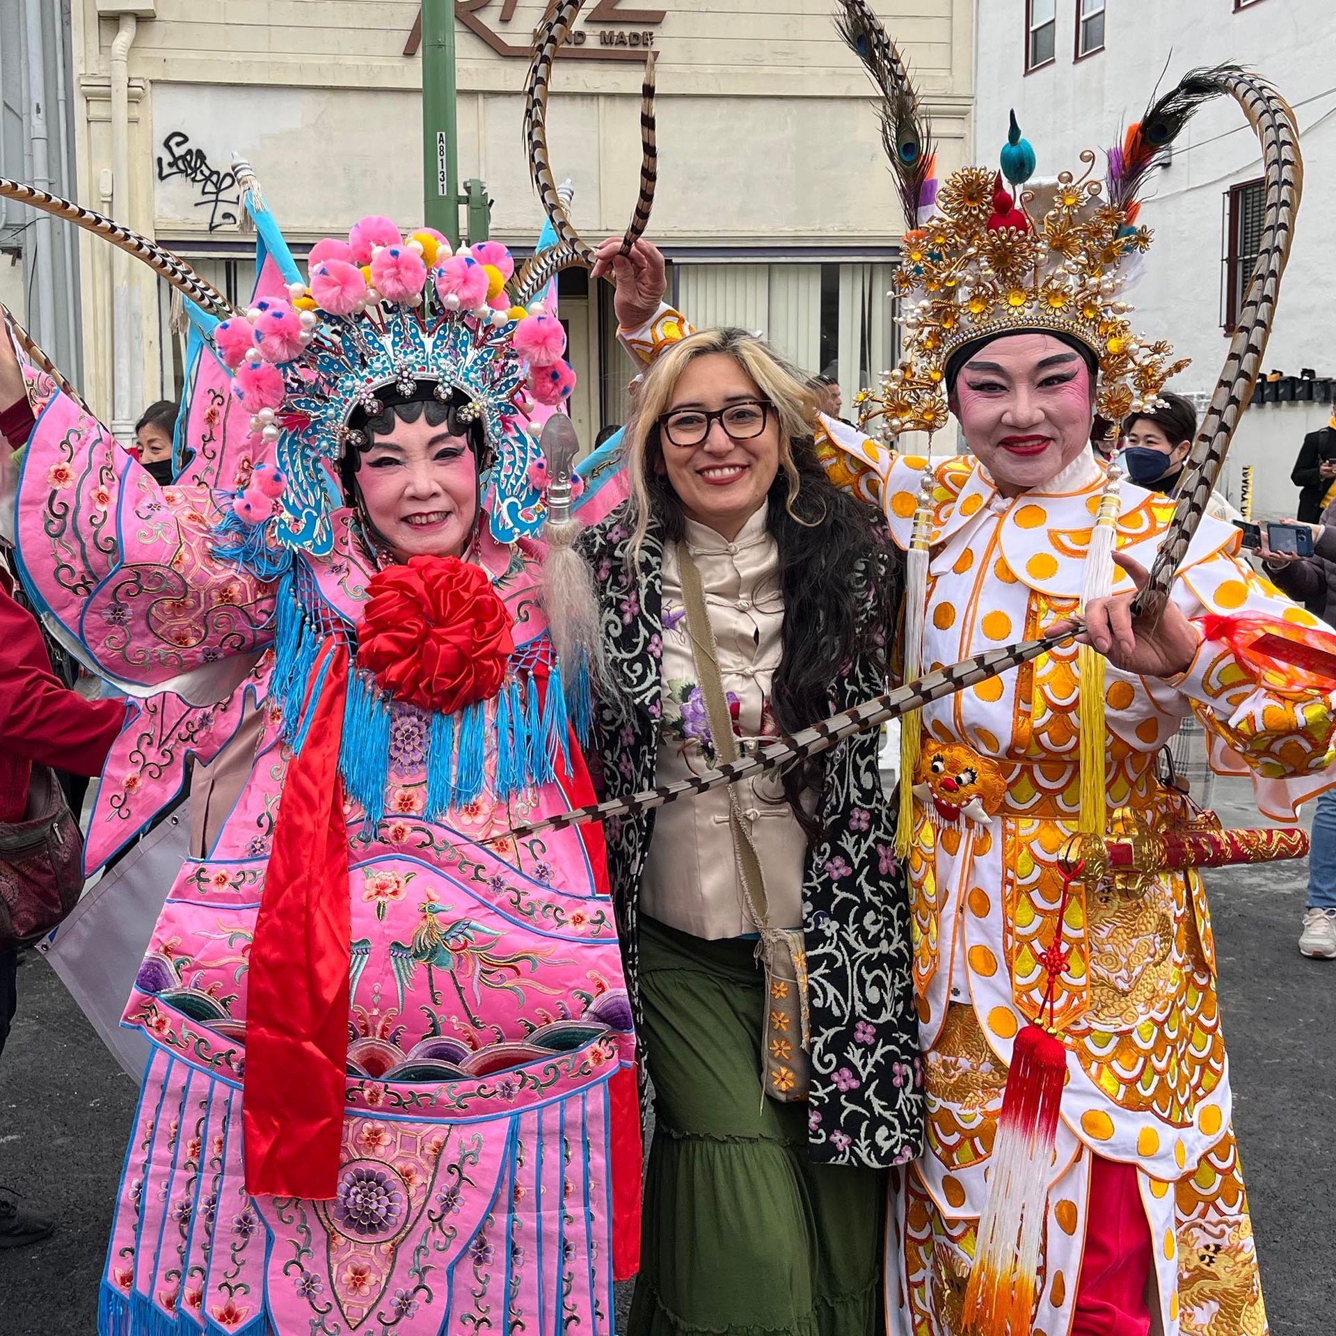
<path fill-rule="evenodd" d="M 816 398 L 807 382 L 764 339 L 740 329 L 700 330 L 675 343 L 645 373 L 631 415 L 627 418 L 624 452 L 631 478 L 631 544 L 627 549 L 632 569 L 640 564 L 640 549 L 653 518 L 680 520 L 681 506 L 663 472 L 663 444 L 659 418 L 672 406 L 683 371 L 697 358 L 711 353 L 731 357 L 755 382 L 763 398 L 774 405 L 779 426 L 779 466 L 787 484 L 786 509 L 795 520 L 794 498 L 798 496 L 799 473 L 794 462 L 794 444 L 808 444 L 816 415 Z M 800 524 L 811 521 L 799 520 Z M 680 524 L 677 525 L 680 528 Z M 676 534 L 673 534 L 676 537 Z"/>

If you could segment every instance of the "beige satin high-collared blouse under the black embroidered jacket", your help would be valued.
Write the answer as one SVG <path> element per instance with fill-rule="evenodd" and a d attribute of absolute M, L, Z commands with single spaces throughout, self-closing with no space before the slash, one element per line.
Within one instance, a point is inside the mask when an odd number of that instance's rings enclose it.
<path fill-rule="evenodd" d="M 772 736 L 770 684 L 783 649 L 784 599 L 779 549 L 758 510 L 733 542 L 687 521 L 687 548 L 705 589 L 719 671 L 733 712 L 739 744 Z M 660 783 L 715 766 L 709 724 L 687 636 L 676 544 L 663 565 L 663 729 Z M 770 775 L 741 780 L 737 796 L 766 879 L 772 927 L 802 926 L 802 883 L 807 840 Z M 728 792 L 712 790 L 659 811 L 640 891 L 641 912 L 693 937 L 716 939 L 755 933 L 743 902 L 728 827 Z"/>

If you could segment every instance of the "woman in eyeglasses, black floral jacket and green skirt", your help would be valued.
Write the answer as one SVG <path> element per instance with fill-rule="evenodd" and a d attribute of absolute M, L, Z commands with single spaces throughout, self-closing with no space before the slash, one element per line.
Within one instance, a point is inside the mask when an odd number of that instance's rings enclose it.
<path fill-rule="evenodd" d="M 695 334 L 647 373 L 627 425 L 631 496 L 584 536 L 608 796 L 884 689 L 899 558 L 827 481 L 814 411 L 741 330 Z M 922 1090 L 876 760 L 863 736 L 609 822 L 656 1113 L 637 1336 L 878 1327 L 886 1172 L 919 1152 Z"/>

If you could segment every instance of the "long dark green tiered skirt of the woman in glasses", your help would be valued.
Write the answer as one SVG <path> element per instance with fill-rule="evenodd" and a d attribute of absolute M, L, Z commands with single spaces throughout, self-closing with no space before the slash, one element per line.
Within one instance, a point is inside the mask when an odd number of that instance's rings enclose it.
<path fill-rule="evenodd" d="M 875 1336 L 887 1172 L 807 1160 L 762 1097 L 755 943 L 640 921 L 655 1136 L 631 1336 Z"/>

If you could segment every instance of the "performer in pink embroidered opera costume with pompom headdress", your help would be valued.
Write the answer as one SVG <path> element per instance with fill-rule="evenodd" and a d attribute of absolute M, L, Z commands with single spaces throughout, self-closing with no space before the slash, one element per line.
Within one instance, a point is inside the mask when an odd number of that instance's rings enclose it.
<path fill-rule="evenodd" d="M 98 1329 L 611 1331 L 640 1128 L 603 836 L 509 834 L 592 799 L 530 541 L 565 339 L 497 243 L 366 218 L 303 278 L 257 220 L 253 307 L 191 313 L 175 485 L 0 350 L 23 576 L 136 697 L 90 864 L 262 717 L 126 1005 Z"/>

